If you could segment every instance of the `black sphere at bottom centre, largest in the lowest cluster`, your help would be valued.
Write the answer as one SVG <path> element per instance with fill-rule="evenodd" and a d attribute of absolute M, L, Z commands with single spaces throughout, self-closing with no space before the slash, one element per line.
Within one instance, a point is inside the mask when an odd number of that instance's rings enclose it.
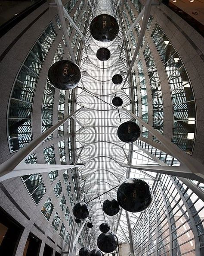
<path fill-rule="evenodd" d="M 107 234 L 102 233 L 97 239 L 97 246 L 104 253 L 111 253 L 117 248 L 118 239 L 116 235 L 112 232 L 109 232 Z"/>

